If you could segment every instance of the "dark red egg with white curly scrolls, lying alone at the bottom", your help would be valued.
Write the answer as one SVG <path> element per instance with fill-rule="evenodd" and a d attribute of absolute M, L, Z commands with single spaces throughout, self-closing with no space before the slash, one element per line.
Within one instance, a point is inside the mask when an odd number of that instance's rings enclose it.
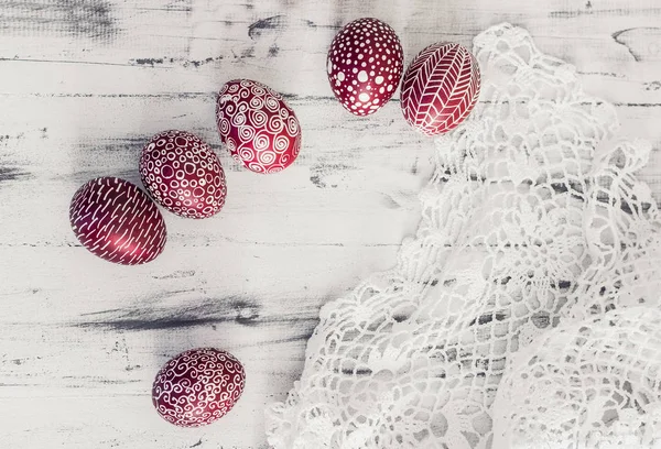
<path fill-rule="evenodd" d="M 229 352 L 192 349 L 170 360 L 156 374 L 152 402 L 163 419 L 199 427 L 225 416 L 246 383 L 243 365 Z"/>

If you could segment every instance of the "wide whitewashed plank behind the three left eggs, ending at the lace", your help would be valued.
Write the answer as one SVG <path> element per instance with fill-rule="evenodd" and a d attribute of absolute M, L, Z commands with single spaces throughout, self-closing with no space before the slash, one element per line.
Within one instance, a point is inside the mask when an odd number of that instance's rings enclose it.
<path fill-rule="evenodd" d="M 76 108 L 83 101 L 89 107 Z M 305 130 L 304 150 L 294 167 L 274 176 L 247 172 L 219 149 L 212 98 L 185 105 L 163 99 L 152 113 L 144 101 L 121 98 L 32 98 L 8 105 L 0 112 L 11 129 L 0 142 L 0 201 L 13 212 L 0 216 L 4 247 L 75 244 L 63 211 L 79 185 L 104 175 L 140 184 L 144 142 L 173 122 L 194 123 L 192 131 L 217 147 L 229 193 L 224 211 L 213 219 L 191 221 L 167 213 L 169 247 L 397 245 L 402 231 L 414 230 L 418 217 L 411 212 L 432 169 L 433 142 L 409 130 L 394 105 L 382 111 L 381 120 L 361 121 L 344 120 L 334 101 L 293 102 Z M 173 109 L 184 120 L 172 120 Z M 149 121 L 136 123 L 147 116 Z M 409 142 L 402 149 L 404 136 Z"/>

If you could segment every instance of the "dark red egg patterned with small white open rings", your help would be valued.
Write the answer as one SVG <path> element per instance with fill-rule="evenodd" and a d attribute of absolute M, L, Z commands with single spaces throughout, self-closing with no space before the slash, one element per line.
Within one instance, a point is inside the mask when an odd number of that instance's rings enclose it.
<path fill-rule="evenodd" d="M 142 184 L 173 213 L 207 218 L 225 205 L 225 172 L 214 150 L 185 131 L 154 135 L 140 157 Z"/>

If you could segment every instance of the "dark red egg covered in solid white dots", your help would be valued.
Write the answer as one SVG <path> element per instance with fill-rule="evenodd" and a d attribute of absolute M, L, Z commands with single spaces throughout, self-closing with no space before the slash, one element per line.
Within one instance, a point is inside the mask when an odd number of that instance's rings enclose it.
<path fill-rule="evenodd" d="M 399 37 L 378 19 L 345 25 L 328 50 L 328 81 L 346 110 L 367 116 L 379 110 L 399 86 L 404 53 Z"/>

